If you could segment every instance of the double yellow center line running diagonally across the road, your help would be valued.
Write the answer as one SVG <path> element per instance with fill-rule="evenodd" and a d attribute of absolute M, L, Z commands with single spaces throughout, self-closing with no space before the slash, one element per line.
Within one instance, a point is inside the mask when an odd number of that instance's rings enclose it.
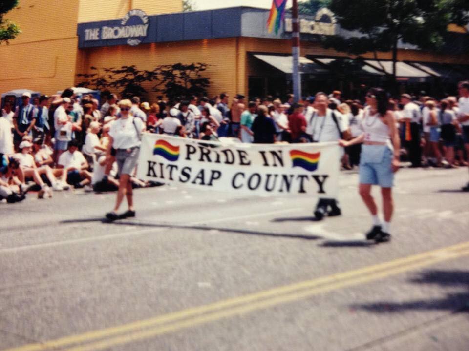
<path fill-rule="evenodd" d="M 111 346 L 190 328 L 221 318 L 296 301 L 315 294 L 416 270 L 431 264 L 467 255 L 469 255 L 469 242 L 398 258 L 353 271 L 332 274 L 309 281 L 230 298 L 210 305 L 172 312 L 122 326 L 89 331 L 79 335 L 66 336 L 43 343 L 28 344 L 4 351 L 45 351 L 56 350 L 58 348 L 64 350 L 67 347 L 71 347 L 66 349 L 67 351 L 102 350 Z M 93 342 L 94 340 L 98 341 Z M 73 347 L 73 345 L 79 346 Z"/>

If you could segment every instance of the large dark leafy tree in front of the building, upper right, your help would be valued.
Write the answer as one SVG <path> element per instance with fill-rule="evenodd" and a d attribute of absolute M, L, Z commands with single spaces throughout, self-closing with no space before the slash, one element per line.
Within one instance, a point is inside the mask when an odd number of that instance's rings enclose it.
<path fill-rule="evenodd" d="M 438 50 L 444 44 L 448 24 L 469 21 L 469 0 L 331 0 L 329 9 L 342 29 L 357 36 L 323 37 L 326 48 L 361 55 L 392 52 L 392 78 L 396 81 L 398 44 Z"/>

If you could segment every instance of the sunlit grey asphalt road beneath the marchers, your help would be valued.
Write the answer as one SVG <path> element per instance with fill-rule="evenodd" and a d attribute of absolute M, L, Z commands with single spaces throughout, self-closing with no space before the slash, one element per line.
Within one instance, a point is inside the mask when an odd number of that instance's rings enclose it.
<path fill-rule="evenodd" d="M 0 203 L 0 350 L 469 350 L 467 169 L 398 173 L 393 239 L 307 197 L 162 186 Z M 379 191 L 374 192 L 379 196 Z"/>

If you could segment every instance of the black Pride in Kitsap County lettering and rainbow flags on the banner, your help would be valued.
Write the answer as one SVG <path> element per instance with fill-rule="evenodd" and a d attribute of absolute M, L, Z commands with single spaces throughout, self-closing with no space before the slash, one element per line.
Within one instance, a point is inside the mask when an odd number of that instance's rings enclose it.
<path fill-rule="evenodd" d="M 249 169 L 251 160 L 249 154 L 244 150 L 239 149 L 220 149 L 202 146 L 185 144 L 185 161 L 213 164 L 213 165 L 236 165 L 239 166 L 239 171 L 236 172 L 230 179 L 230 187 L 233 190 L 249 189 L 255 191 L 263 188 L 267 192 L 290 193 L 292 189 L 296 189 L 298 193 L 306 193 L 305 182 L 314 180 L 317 184 L 317 193 L 324 194 L 324 184 L 327 181 L 328 175 L 311 175 L 311 174 L 279 174 L 279 168 L 285 167 L 283 160 L 282 150 L 275 151 L 258 151 L 263 164 L 262 167 L 277 168 L 275 173 L 248 173 L 244 172 L 243 167 Z M 155 162 L 147 160 L 147 177 L 157 178 L 158 180 L 177 181 L 180 183 L 192 183 L 194 185 L 202 185 L 212 187 L 215 182 L 221 181 L 223 178 L 223 168 L 209 169 L 198 168 L 195 172 L 190 166 L 183 166 L 180 168 L 177 164 L 179 159 L 179 147 L 174 147 L 166 142 L 157 142 L 154 147 L 154 155 L 159 155 L 171 162 Z M 302 159 L 298 162 L 298 152 L 290 152 L 293 167 L 298 165 L 306 171 L 316 169 L 320 154 L 307 154 L 300 155 Z"/>

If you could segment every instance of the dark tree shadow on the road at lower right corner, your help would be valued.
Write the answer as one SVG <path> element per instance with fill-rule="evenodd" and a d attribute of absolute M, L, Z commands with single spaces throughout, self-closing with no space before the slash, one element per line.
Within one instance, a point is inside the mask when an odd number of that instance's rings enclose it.
<path fill-rule="evenodd" d="M 397 313 L 407 310 L 448 310 L 452 312 L 469 312 L 469 271 L 428 271 L 411 279 L 415 284 L 437 284 L 443 287 L 461 287 L 460 292 L 448 292 L 444 298 L 414 300 L 402 303 L 378 302 L 353 305 L 375 313 Z"/>

